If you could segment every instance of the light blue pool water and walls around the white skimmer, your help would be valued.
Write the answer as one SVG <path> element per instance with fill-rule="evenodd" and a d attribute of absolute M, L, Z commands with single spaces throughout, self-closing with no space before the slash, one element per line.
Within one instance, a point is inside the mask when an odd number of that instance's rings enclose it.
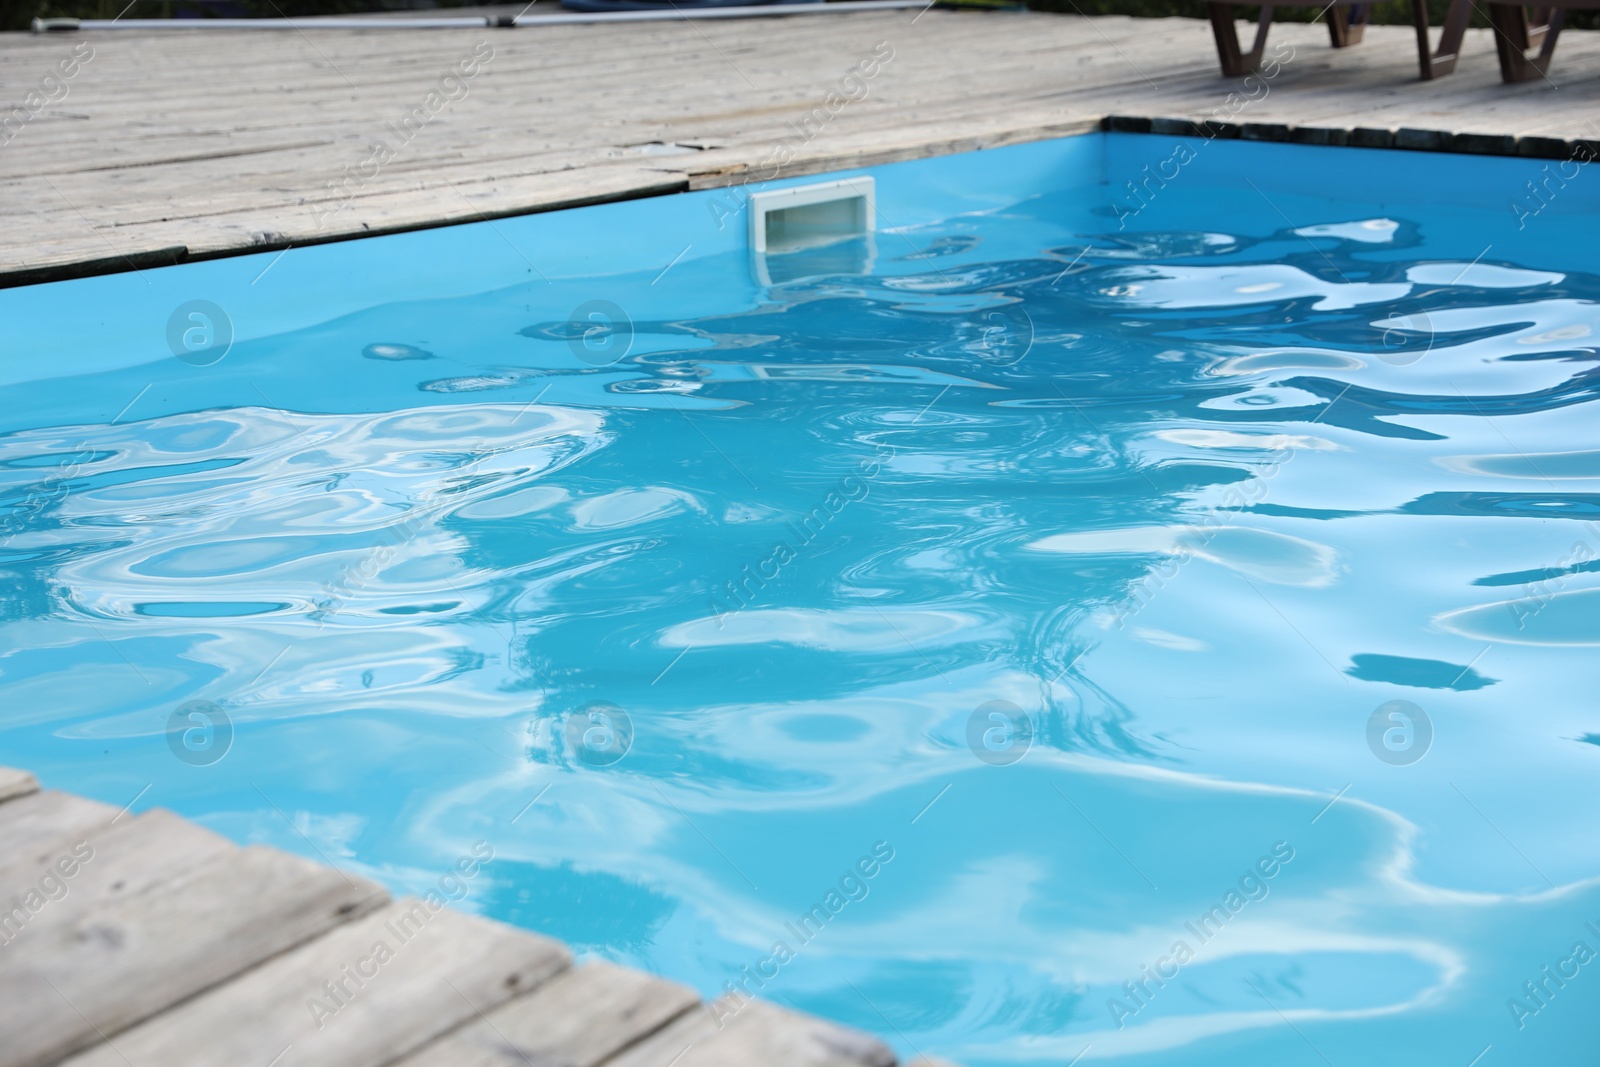
<path fill-rule="evenodd" d="M 0 293 L 0 761 L 973 1067 L 1592 1062 L 1600 178 L 1174 146 Z"/>

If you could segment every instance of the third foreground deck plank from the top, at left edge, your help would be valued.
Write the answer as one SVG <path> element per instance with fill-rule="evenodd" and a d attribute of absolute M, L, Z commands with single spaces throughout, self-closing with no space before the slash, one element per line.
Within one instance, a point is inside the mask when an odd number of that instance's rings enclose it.
<path fill-rule="evenodd" d="M 0 870 L 0 944 L 114 905 L 237 851 L 170 811 L 147 811 L 16 856 Z"/>

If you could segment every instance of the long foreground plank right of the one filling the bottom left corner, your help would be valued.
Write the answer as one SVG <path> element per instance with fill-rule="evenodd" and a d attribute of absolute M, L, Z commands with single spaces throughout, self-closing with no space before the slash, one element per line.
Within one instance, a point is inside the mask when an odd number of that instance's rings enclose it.
<path fill-rule="evenodd" d="M 402 899 L 67 1064 L 381 1067 L 570 961 L 546 937 Z"/>

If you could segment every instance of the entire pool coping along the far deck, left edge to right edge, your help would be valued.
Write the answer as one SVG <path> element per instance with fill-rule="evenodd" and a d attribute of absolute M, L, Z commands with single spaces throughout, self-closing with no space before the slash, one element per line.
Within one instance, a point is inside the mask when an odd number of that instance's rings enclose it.
<path fill-rule="evenodd" d="M 1221 141 L 1262 141 L 1277 144 L 1306 144 L 1320 147 L 1354 147 L 1354 149 L 1392 149 L 1400 152 L 1435 152 L 1454 155 L 1486 155 L 1501 158 L 1526 160 L 1579 160 L 1600 158 L 1600 138 L 1547 138 L 1538 134 L 1491 134 L 1491 133 L 1451 133 L 1448 130 L 1427 130 L 1418 126 L 1330 126 L 1330 125 L 1294 125 L 1272 122 L 1232 123 L 1219 120 L 1170 118 L 1158 115 L 1102 115 L 1101 118 L 1070 120 L 1045 126 L 1029 126 L 1021 130 L 1002 130 L 987 136 L 957 136 L 944 139 L 923 139 L 891 147 L 859 149 L 850 152 L 819 154 L 810 158 L 798 158 L 773 179 L 805 178 L 808 174 L 824 174 L 830 171 L 854 170 L 862 166 L 880 166 L 907 160 L 954 155 L 960 152 L 979 152 L 1011 144 L 1027 144 L 1050 141 L 1056 138 L 1085 136 L 1090 133 L 1136 133 L 1165 134 L 1179 138 L 1205 138 Z M 366 237 L 386 237 L 392 234 L 410 234 L 430 230 L 445 226 L 461 226 L 467 222 L 485 222 L 494 219 L 520 218 L 528 214 L 544 214 L 547 211 L 565 211 L 602 203 L 621 203 L 627 200 L 645 200 L 680 192 L 696 192 L 702 189 L 725 189 L 738 184 L 755 184 L 750 181 L 750 165 L 739 162 L 730 166 L 707 171 L 656 171 L 659 181 L 648 181 L 637 186 L 610 189 L 594 195 L 562 197 L 541 203 L 507 205 L 496 210 L 474 210 L 464 213 L 440 213 L 435 219 L 406 221 L 389 227 L 363 227 L 342 234 L 293 235 L 293 234 L 258 234 L 248 245 L 213 248 L 194 253 L 186 245 L 170 245 L 134 253 L 117 253 L 112 256 L 96 256 L 90 259 L 74 259 L 66 262 L 42 264 L 37 267 L 0 267 L 0 290 L 21 288 L 29 285 L 45 285 L 50 282 L 70 282 L 75 278 L 91 278 L 115 274 L 138 272 L 150 267 L 170 267 L 187 262 L 206 262 L 211 259 L 227 259 L 234 256 L 251 256 L 267 251 L 283 251 L 288 248 L 307 248 L 312 245 L 331 245 Z"/>

